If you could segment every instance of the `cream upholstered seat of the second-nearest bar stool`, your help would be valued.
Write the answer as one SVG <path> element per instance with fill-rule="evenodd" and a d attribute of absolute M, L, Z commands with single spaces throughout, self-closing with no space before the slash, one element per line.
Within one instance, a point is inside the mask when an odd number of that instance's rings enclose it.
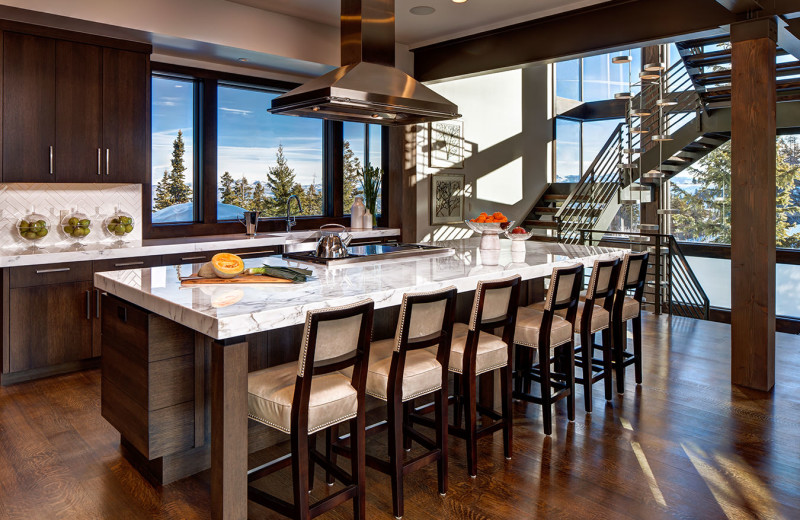
<path fill-rule="evenodd" d="M 374 341 L 369 350 L 367 393 L 382 401 L 388 399 L 389 372 L 392 368 L 395 340 Z M 429 349 L 406 352 L 401 399 L 405 402 L 442 388 L 442 365 L 436 361 L 438 345 Z M 352 369 L 345 371 L 350 375 Z"/>

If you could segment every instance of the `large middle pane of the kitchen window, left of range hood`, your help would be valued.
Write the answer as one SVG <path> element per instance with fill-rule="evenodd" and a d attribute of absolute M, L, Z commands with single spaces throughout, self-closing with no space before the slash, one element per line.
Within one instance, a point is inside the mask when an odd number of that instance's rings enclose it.
<path fill-rule="evenodd" d="M 280 93 L 219 85 L 217 89 L 217 220 L 242 211 L 286 214 L 297 195 L 301 215 L 323 215 L 322 121 L 267 112 Z"/>

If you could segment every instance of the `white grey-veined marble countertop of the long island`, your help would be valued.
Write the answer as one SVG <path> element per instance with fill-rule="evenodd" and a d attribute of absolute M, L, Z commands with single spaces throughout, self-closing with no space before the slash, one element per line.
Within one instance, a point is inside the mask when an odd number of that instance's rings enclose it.
<path fill-rule="evenodd" d="M 336 268 L 299 264 L 279 256 L 246 259 L 246 267 L 263 263 L 306 267 L 314 272 L 304 284 L 207 285 L 181 287 L 179 276 L 197 266 L 164 266 L 95 274 L 95 286 L 134 305 L 165 316 L 215 339 L 226 339 L 303 323 L 311 309 L 372 298 L 376 308 L 399 305 L 403 293 L 455 285 L 474 290 L 479 280 L 519 274 L 523 279 L 548 276 L 553 267 L 622 256 L 625 250 L 593 246 L 525 242 L 512 253 L 501 241 L 499 265 L 484 265 L 479 239 L 439 242 L 450 256 L 413 257 L 351 264 Z"/>

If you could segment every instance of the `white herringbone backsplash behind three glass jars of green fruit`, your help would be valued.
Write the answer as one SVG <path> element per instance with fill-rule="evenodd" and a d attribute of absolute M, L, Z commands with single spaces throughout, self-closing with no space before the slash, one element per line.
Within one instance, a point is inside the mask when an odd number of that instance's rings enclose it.
<path fill-rule="evenodd" d="M 17 223 L 30 213 L 44 215 L 50 222 L 50 231 L 35 242 L 37 247 L 63 247 L 77 242 L 111 244 L 118 239 L 106 232 L 103 221 L 116 211 L 129 213 L 134 219 L 133 231 L 126 240 L 141 240 L 140 184 L 0 184 L 0 248 L 31 247 L 33 242 L 17 233 Z M 67 238 L 59 229 L 61 219 L 73 212 L 83 213 L 91 220 L 91 233 L 80 241 Z"/>

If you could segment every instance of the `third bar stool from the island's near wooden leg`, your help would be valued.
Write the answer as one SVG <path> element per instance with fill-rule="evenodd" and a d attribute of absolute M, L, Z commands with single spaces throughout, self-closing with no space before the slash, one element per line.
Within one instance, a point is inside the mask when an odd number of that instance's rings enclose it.
<path fill-rule="evenodd" d="M 450 399 L 455 403 L 454 424 L 448 432 L 467 441 L 467 473 L 478 476 L 478 439 L 503 430 L 503 452 L 506 459 L 512 452 L 511 416 L 511 349 L 514 324 L 517 319 L 519 285 L 521 278 L 513 276 L 499 280 L 480 281 L 470 311 L 469 325 L 453 325 L 448 370 L 453 372 L 454 389 Z M 494 332 L 502 328 L 502 337 Z M 476 398 L 478 376 L 494 370 L 500 371 L 501 413 L 479 405 Z M 419 413 L 430 406 L 416 409 L 411 420 L 430 424 Z M 464 413 L 464 428 L 461 413 Z M 495 422 L 478 428 L 477 414 Z"/>

